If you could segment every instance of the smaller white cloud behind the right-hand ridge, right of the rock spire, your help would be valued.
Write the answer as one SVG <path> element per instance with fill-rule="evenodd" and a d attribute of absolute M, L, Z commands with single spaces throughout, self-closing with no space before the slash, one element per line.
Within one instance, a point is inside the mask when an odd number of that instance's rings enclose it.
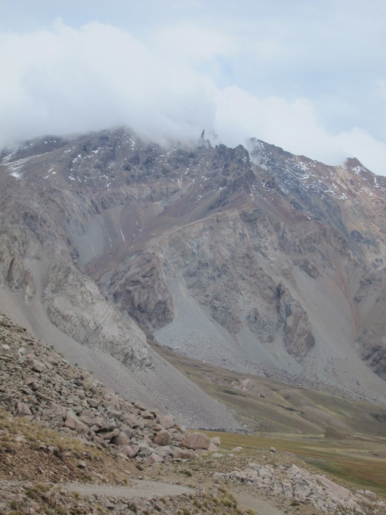
<path fill-rule="evenodd" d="M 386 175 L 386 144 L 354 127 L 329 133 L 318 121 L 312 102 L 281 97 L 258 99 L 236 86 L 219 91 L 216 130 L 227 145 L 258 134 L 260 140 L 326 164 L 342 164 L 356 157 L 374 173 Z"/>

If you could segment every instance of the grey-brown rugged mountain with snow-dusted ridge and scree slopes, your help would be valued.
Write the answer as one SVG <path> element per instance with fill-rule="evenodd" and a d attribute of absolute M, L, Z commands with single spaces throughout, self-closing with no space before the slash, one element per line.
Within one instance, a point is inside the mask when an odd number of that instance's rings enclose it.
<path fill-rule="evenodd" d="M 241 374 L 386 401 L 386 178 L 356 159 L 116 128 L 0 162 L 0 310 L 108 386 L 238 427 L 152 334 Z"/>

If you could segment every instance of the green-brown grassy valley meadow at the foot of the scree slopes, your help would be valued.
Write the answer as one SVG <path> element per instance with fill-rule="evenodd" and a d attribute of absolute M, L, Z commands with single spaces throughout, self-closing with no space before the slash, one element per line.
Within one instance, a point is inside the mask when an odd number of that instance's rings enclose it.
<path fill-rule="evenodd" d="M 386 407 L 224 370 L 149 341 L 153 349 L 233 411 L 251 434 L 204 431 L 221 446 L 293 454 L 319 472 L 386 498 Z"/>

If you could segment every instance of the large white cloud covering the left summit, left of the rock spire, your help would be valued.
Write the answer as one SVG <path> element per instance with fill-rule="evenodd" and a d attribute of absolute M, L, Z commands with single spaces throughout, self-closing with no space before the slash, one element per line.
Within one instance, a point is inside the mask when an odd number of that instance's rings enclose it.
<path fill-rule="evenodd" d="M 196 136 L 213 117 L 213 85 L 129 33 L 90 23 L 76 30 L 3 33 L 2 144 L 41 133 L 128 124 L 156 137 Z"/>

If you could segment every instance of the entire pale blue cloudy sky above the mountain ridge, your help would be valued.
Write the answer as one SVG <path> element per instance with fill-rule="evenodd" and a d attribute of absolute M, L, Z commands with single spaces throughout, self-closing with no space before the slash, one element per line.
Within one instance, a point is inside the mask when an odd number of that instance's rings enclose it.
<path fill-rule="evenodd" d="M 128 125 L 386 175 L 383 0 L 0 0 L 0 147 Z"/>

